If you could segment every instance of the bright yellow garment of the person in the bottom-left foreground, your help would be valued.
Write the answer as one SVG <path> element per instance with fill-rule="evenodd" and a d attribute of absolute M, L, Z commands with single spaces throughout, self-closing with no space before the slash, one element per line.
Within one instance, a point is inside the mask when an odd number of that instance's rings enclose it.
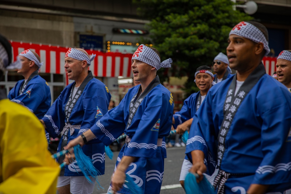
<path fill-rule="evenodd" d="M 60 168 L 45 130 L 23 106 L 0 100 L 0 193 L 56 193 Z"/>

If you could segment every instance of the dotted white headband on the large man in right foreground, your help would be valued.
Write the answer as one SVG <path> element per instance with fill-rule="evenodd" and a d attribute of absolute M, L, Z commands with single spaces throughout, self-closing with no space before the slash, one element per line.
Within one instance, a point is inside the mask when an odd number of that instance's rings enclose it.
<path fill-rule="evenodd" d="M 270 48 L 269 43 L 265 35 L 253 24 L 248 22 L 239 22 L 233 29 L 230 31 L 229 35 L 235 34 L 244 38 L 248 38 L 256 43 L 262 42 L 264 44 L 264 49 L 266 51 L 265 55 L 269 54 Z"/>

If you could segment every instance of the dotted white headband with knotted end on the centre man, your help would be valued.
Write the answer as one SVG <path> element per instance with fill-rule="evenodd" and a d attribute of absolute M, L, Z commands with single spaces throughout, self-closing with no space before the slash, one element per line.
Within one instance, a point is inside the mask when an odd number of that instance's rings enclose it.
<path fill-rule="evenodd" d="M 171 67 L 171 63 L 173 63 L 171 58 L 168 58 L 161 63 L 159 55 L 145 45 L 139 46 L 139 48 L 132 55 L 132 59 L 140 60 L 150 66 L 155 67 L 157 70 L 161 67 Z"/>

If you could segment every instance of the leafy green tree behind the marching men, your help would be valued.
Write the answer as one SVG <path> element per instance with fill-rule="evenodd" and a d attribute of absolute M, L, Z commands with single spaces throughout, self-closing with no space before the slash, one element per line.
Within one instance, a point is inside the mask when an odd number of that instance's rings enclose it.
<path fill-rule="evenodd" d="M 168 75 L 188 76 L 185 91 L 198 91 L 193 83 L 197 67 L 210 66 L 214 57 L 226 54 L 228 34 L 235 24 L 252 17 L 233 10 L 230 0 L 133 0 L 137 12 L 150 20 L 147 28 L 162 60 L 173 59 L 172 68 L 158 71 L 161 81 Z M 168 71 L 168 73 L 165 73 Z"/>

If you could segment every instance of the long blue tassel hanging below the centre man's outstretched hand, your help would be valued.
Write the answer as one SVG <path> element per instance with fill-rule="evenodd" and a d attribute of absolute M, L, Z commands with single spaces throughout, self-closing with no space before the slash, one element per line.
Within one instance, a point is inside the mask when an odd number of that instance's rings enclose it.
<path fill-rule="evenodd" d="M 93 184 L 93 181 L 91 181 L 91 179 L 89 178 L 89 176 L 92 176 L 97 181 L 99 186 L 102 189 L 104 189 L 97 180 L 98 179 L 97 176 L 101 175 L 101 173 L 93 166 L 91 158 L 84 154 L 80 145 L 76 145 L 74 147 L 74 153 L 77 160 L 77 164 L 80 170 L 83 172 L 86 179 L 88 180 L 88 182 Z"/>

